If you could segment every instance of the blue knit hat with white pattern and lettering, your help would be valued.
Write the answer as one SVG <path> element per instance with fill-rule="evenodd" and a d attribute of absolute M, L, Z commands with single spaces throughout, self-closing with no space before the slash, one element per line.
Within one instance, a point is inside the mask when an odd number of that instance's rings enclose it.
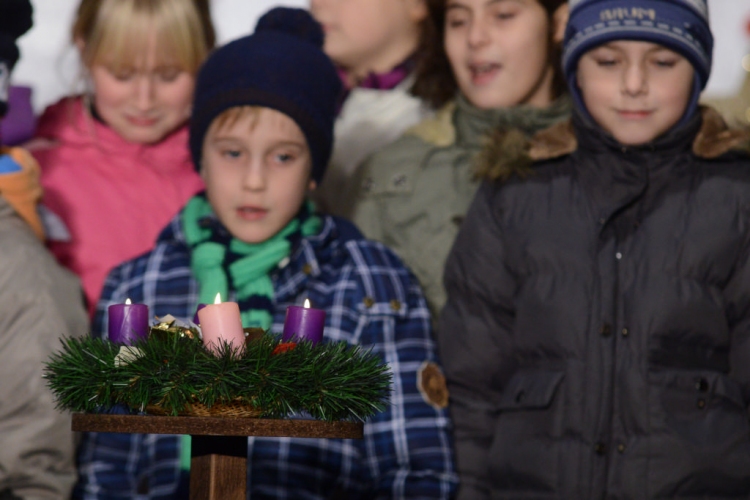
<path fill-rule="evenodd" d="M 579 109 L 586 110 L 576 82 L 578 60 L 614 40 L 652 42 L 684 56 L 695 68 L 695 84 L 683 121 L 698 109 L 714 45 L 707 0 L 569 0 L 568 5 L 563 72 Z"/>

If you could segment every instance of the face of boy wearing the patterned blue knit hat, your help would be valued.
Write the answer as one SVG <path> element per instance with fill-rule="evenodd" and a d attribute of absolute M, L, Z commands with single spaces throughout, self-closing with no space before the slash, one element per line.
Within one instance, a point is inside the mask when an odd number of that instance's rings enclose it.
<path fill-rule="evenodd" d="M 682 118 L 693 66 L 650 42 L 618 40 L 581 56 L 578 87 L 591 117 L 625 145 L 650 142 Z"/>

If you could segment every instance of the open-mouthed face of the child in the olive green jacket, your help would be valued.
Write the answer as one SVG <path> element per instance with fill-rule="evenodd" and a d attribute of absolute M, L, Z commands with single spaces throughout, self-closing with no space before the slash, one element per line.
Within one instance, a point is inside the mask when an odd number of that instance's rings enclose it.
<path fill-rule="evenodd" d="M 559 41 L 564 26 L 555 28 Z M 461 92 L 478 108 L 551 102 L 549 16 L 537 0 L 447 0 L 444 43 Z"/>

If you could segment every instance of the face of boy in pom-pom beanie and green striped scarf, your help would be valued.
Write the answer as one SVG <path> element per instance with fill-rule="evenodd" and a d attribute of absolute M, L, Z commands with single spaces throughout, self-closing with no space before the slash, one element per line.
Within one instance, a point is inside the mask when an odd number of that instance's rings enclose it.
<path fill-rule="evenodd" d="M 269 239 L 295 217 L 315 187 L 311 169 L 299 126 L 273 109 L 211 126 L 203 143 L 208 200 L 222 224 L 245 243 Z"/>

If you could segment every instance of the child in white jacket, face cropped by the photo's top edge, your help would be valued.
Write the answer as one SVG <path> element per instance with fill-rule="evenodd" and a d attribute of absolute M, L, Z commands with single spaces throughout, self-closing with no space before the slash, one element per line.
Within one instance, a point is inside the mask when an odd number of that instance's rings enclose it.
<path fill-rule="evenodd" d="M 349 215 L 344 190 L 362 162 L 431 114 L 412 94 L 425 44 L 434 39 L 426 0 L 311 0 L 324 50 L 344 82 L 336 144 L 313 195 L 325 211 Z"/>

